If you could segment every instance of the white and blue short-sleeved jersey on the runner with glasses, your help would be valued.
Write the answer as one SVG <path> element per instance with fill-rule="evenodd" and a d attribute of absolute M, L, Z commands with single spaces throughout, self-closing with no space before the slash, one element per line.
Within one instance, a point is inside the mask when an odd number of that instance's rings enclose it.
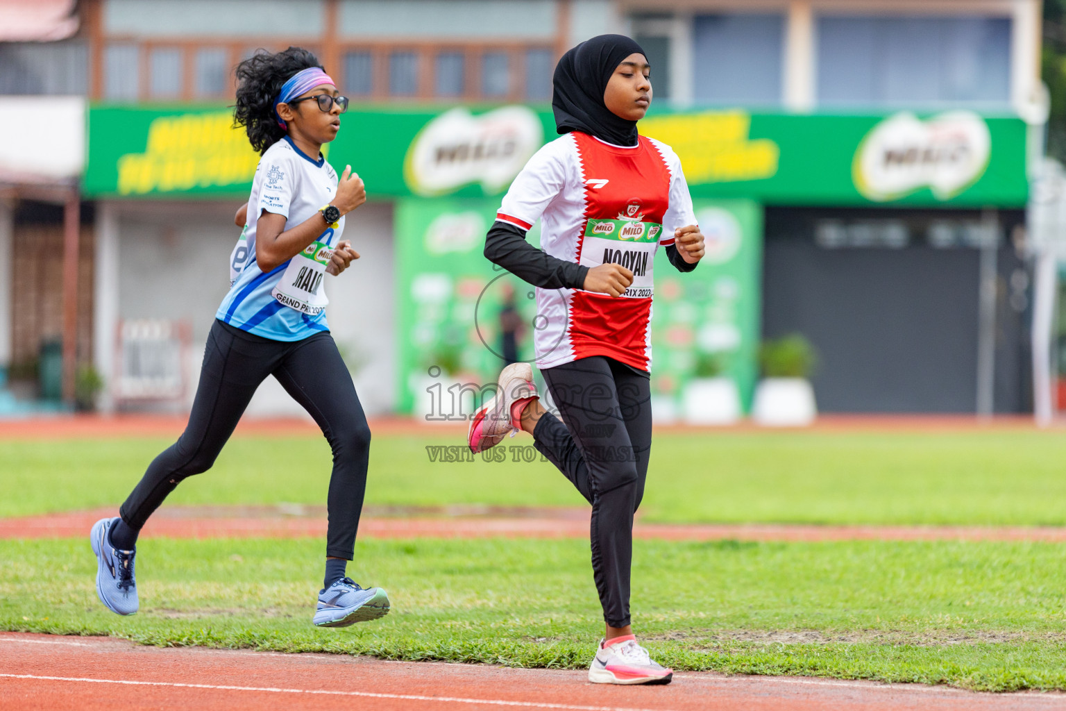
<path fill-rule="evenodd" d="M 307 249 L 265 274 L 256 262 L 256 224 L 265 210 L 285 215 L 289 229 L 313 216 L 336 193 L 337 173 L 325 159 L 311 159 L 289 136 L 266 149 L 252 181 L 247 223 L 230 256 L 231 286 L 215 314 L 220 321 L 275 341 L 298 341 L 329 329 L 322 274 L 344 217 L 335 226 L 323 221 L 322 235 Z M 292 297 L 300 289 L 289 282 L 309 292 L 307 298 Z"/>

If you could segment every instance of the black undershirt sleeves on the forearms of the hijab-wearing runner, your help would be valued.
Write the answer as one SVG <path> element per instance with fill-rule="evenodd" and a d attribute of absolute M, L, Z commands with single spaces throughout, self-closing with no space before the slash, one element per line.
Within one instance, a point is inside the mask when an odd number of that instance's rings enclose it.
<path fill-rule="evenodd" d="M 515 276 L 542 289 L 581 289 L 587 266 L 559 259 L 526 241 L 526 230 L 505 222 L 492 224 L 485 236 L 485 258 Z M 673 244 L 666 257 L 679 272 L 691 272 L 696 264 L 684 261 Z"/>

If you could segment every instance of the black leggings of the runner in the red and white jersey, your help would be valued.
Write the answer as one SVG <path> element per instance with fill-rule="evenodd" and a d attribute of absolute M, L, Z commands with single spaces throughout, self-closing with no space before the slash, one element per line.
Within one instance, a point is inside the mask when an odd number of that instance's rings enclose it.
<path fill-rule="evenodd" d="M 611 358 L 582 358 L 540 371 L 563 421 L 546 413 L 535 447 L 593 505 L 593 573 L 603 619 L 629 625 L 633 514 L 651 451 L 648 376 Z"/>

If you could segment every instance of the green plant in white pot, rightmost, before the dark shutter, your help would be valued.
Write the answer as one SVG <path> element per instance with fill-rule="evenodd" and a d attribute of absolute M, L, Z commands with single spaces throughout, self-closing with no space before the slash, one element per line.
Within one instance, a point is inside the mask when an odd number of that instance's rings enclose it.
<path fill-rule="evenodd" d="M 807 379 L 817 355 L 800 334 L 763 341 L 759 349 L 762 379 L 755 389 L 752 417 L 769 426 L 802 426 L 818 415 L 814 389 Z"/>

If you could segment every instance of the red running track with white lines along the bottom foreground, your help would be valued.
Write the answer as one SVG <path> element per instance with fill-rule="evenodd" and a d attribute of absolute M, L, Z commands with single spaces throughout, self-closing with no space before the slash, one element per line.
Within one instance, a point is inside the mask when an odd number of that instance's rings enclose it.
<path fill-rule="evenodd" d="M 0 633 L 5 711 L 321 711 L 339 705 L 360 711 L 1043 711 L 1066 707 L 1066 694 L 691 673 L 668 686 L 603 686 L 589 684 L 584 672 Z"/>

